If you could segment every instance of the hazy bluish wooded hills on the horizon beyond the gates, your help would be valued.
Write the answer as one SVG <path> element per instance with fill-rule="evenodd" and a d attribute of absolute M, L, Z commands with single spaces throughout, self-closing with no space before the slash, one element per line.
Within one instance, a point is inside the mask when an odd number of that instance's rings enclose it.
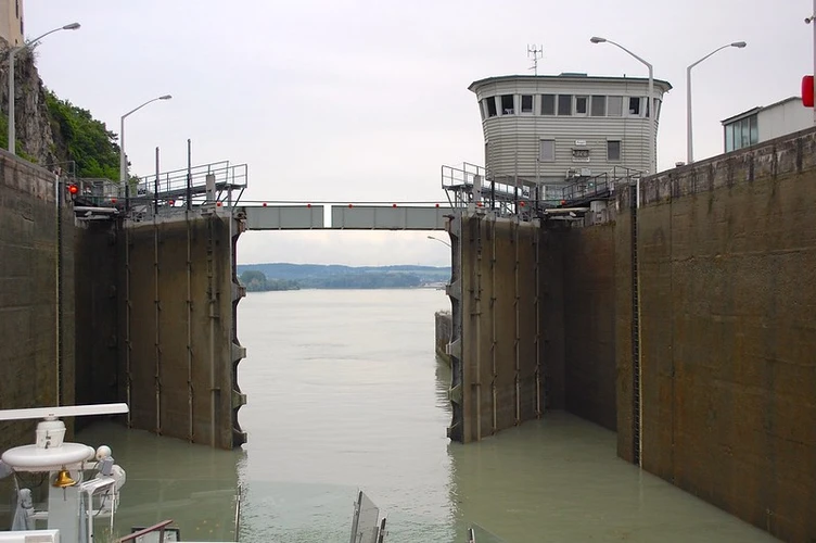
<path fill-rule="evenodd" d="M 238 274 L 260 272 L 269 281 L 302 289 L 391 289 L 447 282 L 450 267 L 343 266 L 340 264 L 239 264 Z"/>

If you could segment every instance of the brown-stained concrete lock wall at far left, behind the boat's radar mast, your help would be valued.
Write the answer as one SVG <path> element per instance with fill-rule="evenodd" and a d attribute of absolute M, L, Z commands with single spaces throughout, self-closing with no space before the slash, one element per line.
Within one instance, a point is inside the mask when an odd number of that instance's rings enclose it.
<path fill-rule="evenodd" d="M 2 409 L 74 404 L 74 219 L 56 187 L 0 151 Z M 36 422 L 0 422 L 0 451 L 30 443 Z"/>

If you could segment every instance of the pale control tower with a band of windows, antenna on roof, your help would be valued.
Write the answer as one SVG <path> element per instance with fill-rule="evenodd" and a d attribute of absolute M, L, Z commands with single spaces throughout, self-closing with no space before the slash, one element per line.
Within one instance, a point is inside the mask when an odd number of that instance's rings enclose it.
<path fill-rule="evenodd" d="M 663 94 L 654 80 L 656 149 Z M 559 188 L 576 178 L 648 172 L 648 79 L 513 75 L 469 87 L 476 94 L 488 179 L 514 186 Z"/>

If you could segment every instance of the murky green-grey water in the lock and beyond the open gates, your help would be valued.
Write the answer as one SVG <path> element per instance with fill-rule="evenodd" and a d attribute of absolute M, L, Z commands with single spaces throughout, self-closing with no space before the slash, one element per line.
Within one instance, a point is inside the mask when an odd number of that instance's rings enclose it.
<path fill-rule="evenodd" d="M 357 489 L 387 515 L 386 542 L 776 541 L 616 458 L 615 434 L 549 413 L 482 443 L 450 443 L 449 369 L 434 355 L 442 291 L 251 293 L 243 451 L 97 425 L 128 473 L 120 526 L 174 518 L 186 541 L 341 542 Z"/>

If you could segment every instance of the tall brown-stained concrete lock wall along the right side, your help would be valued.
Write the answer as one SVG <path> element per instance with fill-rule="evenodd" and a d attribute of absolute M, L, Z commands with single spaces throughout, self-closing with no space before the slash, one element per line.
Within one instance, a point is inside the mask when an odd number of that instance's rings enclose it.
<path fill-rule="evenodd" d="M 647 179 L 641 198 L 643 468 L 782 540 L 816 539 L 816 131 Z M 617 204 L 621 406 L 626 191 Z"/>

